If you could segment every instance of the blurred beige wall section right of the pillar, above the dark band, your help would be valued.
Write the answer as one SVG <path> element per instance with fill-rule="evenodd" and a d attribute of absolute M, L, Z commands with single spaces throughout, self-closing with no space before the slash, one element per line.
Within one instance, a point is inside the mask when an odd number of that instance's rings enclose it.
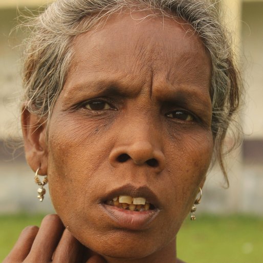
<path fill-rule="evenodd" d="M 248 139 L 263 139 L 263 3 L 245 3 L 242 20 L 246 80 L 246 108 L 242 119 Z"/>

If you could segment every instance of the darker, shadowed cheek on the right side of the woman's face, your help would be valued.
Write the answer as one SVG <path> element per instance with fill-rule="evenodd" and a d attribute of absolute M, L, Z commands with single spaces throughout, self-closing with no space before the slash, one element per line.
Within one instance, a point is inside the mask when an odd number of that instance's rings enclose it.
<path fill-rule="evenodd" d="M 167 163 L 170 164 L 167 194 L 174 196 L 172 213 L 177 218 L 187 216 L 204 182 L 213 153 L 213 139 L 209 131 L 182 135 L 169 148 Z M 180 211 L 180 212 L 179 212 Z M 172 224 L 172 222 L 171 222 Z"/>

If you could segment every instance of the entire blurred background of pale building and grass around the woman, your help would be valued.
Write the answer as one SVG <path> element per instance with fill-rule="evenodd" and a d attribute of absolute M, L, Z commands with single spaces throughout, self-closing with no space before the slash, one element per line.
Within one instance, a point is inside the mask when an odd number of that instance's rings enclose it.
<path fill-rule="evenodd" d="M 239 116 L 245 136 L 243 144 L 227 157 L 230 188 L 224 188 L 223 175 L 216 165 L 209 172 L 196 212 L 199 222 L 185 223 L 179 234 L 179 254 L 187 262 L 262 262 L 263 0 L 222 2 L 245 79 L 246 104 Z M 15 47 L 25 37 L 23 32 L 9 34 L 17 25 L 18 9 L 37 9 L 47 4 L 41 0 L 0 1 L 0 261 L 21 229 L 27 224 L 39 224 L 42 214 L 54 212 L 48 193 L 43 203 L 36 198 L 38 187 L 23 148 L 13 152 L 6 146 L 21 138 L 21 54 Z M 230 137 L 228 143 L 231 140 Z M 218 244 L 225 246 L 225 259 L 216 257 Z M 186 251 L 187 246 L 190 249 Z M 195 256 L 204 249 L 206 252 L 198 261 Z"/>

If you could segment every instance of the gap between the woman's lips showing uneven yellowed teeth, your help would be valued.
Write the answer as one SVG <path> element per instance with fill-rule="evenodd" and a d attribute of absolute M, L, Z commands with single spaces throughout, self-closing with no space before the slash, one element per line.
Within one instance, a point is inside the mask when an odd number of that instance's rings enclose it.
<path fill-rule="evenodd" d="M 116 206 L 130 211 L 137 211 L 137 212 L 155 209 L 155 206 L 147 202 L 145 198 L 143 197 L 133 198 L 132 196 L 129 195 L 116 196 L 113 199 L 107 200 L 105 204 L 109 206 Z"/>

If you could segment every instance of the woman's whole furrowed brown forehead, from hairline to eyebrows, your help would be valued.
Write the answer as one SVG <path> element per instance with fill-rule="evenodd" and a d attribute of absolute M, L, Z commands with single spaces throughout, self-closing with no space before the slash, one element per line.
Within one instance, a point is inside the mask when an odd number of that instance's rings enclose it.
<path fill-rule="evenodd" d="M 201 39 L 185 21 L 123 12 L 76 37 L 69 75 L 73 81 L 83 75 L 108 74 L 130 77 L 139 85 L 151 77 L 204 86 L 210 79 L 210 64 Z"/>

